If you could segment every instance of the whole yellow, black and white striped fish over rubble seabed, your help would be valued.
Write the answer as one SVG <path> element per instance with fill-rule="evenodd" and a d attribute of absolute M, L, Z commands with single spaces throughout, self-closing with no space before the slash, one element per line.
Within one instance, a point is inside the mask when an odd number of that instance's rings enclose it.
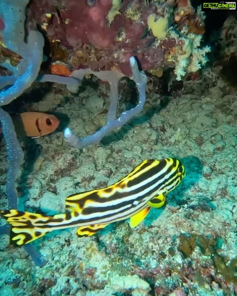
<path fill-rule="evenodd" d="M 21 246 L 55 229 L 79 227 L 79 236 L 90 236 L 106 225 L 130 218 L 137 226 L 151 207 L 159 208 L 165 195 L 180 184 L 185 169 L 176 158 L 145 160 L 131 173 L 108 187 L 70 195 L 70 213 L 44 216 L 17 210 L 0 214 L 11 224 L 10 244 Z"/>

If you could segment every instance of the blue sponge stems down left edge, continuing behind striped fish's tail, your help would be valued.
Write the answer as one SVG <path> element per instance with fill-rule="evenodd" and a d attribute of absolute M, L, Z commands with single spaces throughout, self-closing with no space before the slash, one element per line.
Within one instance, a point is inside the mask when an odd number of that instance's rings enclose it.
<path fill-rule="evenodd" d="M 17 67 L 13 67 L 8 60 L 0 64 L 13 73 L 7 77 L 0 77 L 0 106 L 9 104 L 31 86 L 38 76 L 43 59 L 44 39 L 40 32 L 30 31 L 28 42 L 24 41 L 25 7 L 28 2 L 29 0 L 0 0 L 0 17 L 5 25 L 1 34 L 3 42 L 8 49 L 22 57 L 22 61 Z M 6 88 L 7 85 L 11 86 Z M 1 107 L 0 123 L 9 164 L 6 180 L 8 207 L 9 209 L 17 209 L 15 180 L 24 154 L 18 143 L 11 117 Z M 0 234 L 5 233 L 9 233 L 9 225 L 7 224 L 0 227 Z M 24 249 L 37 266 L 43 266 L 46 263 L 33 245 L 25 246 Z"/>

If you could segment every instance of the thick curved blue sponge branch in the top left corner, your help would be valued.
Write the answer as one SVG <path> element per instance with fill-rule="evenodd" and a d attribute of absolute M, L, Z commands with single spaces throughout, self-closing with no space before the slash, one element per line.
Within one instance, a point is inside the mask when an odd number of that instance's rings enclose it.
<path fill-rule="evenodd" d="M 28 2 L 29 0 L 0 1 L 0 17 L 5 25 L 1 33 L 3 42 L 8 49 L 22 57 L 22 61 L 15 68 L 9 61 L 0 64 L 13 72 L 13 75 L 8 77 L 9 81 L 16 79 L 9 88 L 1 90 L 0 106 L 7 105 L 19 97 L 36 80 L 40 71 L 44 45 L 42 34 L 38 31 L 29 31 L 27 42 L 24 41 L 25 7 Z M 4 85 L 5 81 L 1 81 L 3 79 L 6 78 L 0 77 L 0 85 Z"/>

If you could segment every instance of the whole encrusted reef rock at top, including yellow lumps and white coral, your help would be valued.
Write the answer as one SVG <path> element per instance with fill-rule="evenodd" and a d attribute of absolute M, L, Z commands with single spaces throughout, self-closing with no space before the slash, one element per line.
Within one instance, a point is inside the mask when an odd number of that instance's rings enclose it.
<path fill-rule="evenodd" d="M 181 79 L 205 65 L 210 50 L 196 41 L 204 34 L 205 16 L 190 1 L 33 0 L 29 12 L 51 44 L 61 42 L 70 70 L 131 76 L 129 58 L 135 55 L 143 70 L 175 68 Z"/>

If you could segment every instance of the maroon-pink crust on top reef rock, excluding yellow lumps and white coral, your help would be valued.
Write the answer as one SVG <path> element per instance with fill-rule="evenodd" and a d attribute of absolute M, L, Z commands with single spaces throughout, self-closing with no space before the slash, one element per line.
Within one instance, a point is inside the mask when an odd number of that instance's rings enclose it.
<path fill-rule="evenodd" d="M 138 57 L 143 70 L 174 66 L 170 52 L 182 42 L 166 38 L 156 42 L 147 25 L 148 16 L 166 14 L 166 6 L 173 1 L 151 3 L 123 0 L 119 13 L 110 23 L 108 13 L 111 0 L 32 0 L 28 22 L 37 23 L 45 30 L 50 41 L 60 40 L 69 53 L 68 67 L 72 70 L 90 68 L 93 71 L 118 70 L 131 75 L 129 57 Z M 166 53 L 168 56 L 166 56 Z"/>

